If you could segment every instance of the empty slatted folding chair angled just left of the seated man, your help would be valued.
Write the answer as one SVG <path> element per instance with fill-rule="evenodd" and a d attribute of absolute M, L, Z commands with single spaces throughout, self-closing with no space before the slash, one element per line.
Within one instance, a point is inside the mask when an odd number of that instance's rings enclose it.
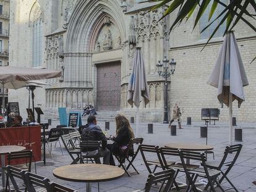
<path fill-rule="evenodd" d="M 77 164 L 77 162 L 80 161 L 80 148 L 74 148 L 72 144 L 70 145 L 71 146 L 70 148 L 67 146 L 67 143 L 70 143 L 70 142 L 72 143 L 72 140 L 69 134 L 61 135 L 61 140 L 62 140 L 62 143 L 64 144 L 65 149 L 69 153 L 69 156 L 72 159 L 72 162 L 70 165 Z M 74 155 L 76 155 L 77 157 L 74 157 Z"/>

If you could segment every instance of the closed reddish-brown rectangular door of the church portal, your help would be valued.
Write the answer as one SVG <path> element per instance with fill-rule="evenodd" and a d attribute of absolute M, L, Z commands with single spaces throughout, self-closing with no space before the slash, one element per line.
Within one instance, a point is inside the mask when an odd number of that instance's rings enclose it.
<path fill-rule="evenodd" d="M 121 104 L 121 62 L 96 65 L 96 110 L 118 111 Z"/>

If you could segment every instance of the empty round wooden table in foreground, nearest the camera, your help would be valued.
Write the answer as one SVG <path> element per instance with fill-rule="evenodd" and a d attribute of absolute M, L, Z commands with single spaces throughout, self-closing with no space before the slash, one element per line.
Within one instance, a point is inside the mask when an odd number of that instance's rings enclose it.
<path fill-rule="evenodd" d="M 58 167 L 53 175 L 70 182 L 86 182 L 86 191 L 91 192 L 91 182 L 106 182 L 124 175 L 119 167 L 104 164 L 74 164 Z"/>

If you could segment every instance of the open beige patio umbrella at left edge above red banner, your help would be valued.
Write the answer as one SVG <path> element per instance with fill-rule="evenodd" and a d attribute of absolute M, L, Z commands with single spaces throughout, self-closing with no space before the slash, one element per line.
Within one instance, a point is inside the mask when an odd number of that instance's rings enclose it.
<path fill-rule="evenodd" d="M 59 70 L 0 66 L 0 83 L 2 84 L 3 90 L 7 88 L 5 85 L 8 85 L 9 88 L 13 87 L 17 89 L 18 86 L 23 85 L 19 81 L 43 80 L 56 77 L 61 77 Z M 2 95 L 2 111 L 4 112 L 4 91 Z"/>

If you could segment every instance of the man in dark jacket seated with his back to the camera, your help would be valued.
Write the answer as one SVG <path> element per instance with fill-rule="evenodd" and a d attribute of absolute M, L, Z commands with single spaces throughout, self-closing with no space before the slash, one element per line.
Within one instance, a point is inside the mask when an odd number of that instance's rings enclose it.
<path fill-rule="evenodd" d="M 101 141 L 101 148 L 99 150 L 99 156 L 103 157 L 103 164 L 108 165 L 109 164 L 109 156 L 110 152 L 108 149 L 106 149 L 107 144 L 107 138 L 104 135 L 101 128 L 96 125 L 97 120 L 95 116 L 90 116 L 87 119 L 87 125 L 82 130 L 81 139 L 82 141 Z M 95 151 L 96 149 L 90 149 L 90 151 Z M 87 151 L 83 151 L 87 152 Z M 95 159 L 97 164 L 100 164 L 100 158 Z"/>

